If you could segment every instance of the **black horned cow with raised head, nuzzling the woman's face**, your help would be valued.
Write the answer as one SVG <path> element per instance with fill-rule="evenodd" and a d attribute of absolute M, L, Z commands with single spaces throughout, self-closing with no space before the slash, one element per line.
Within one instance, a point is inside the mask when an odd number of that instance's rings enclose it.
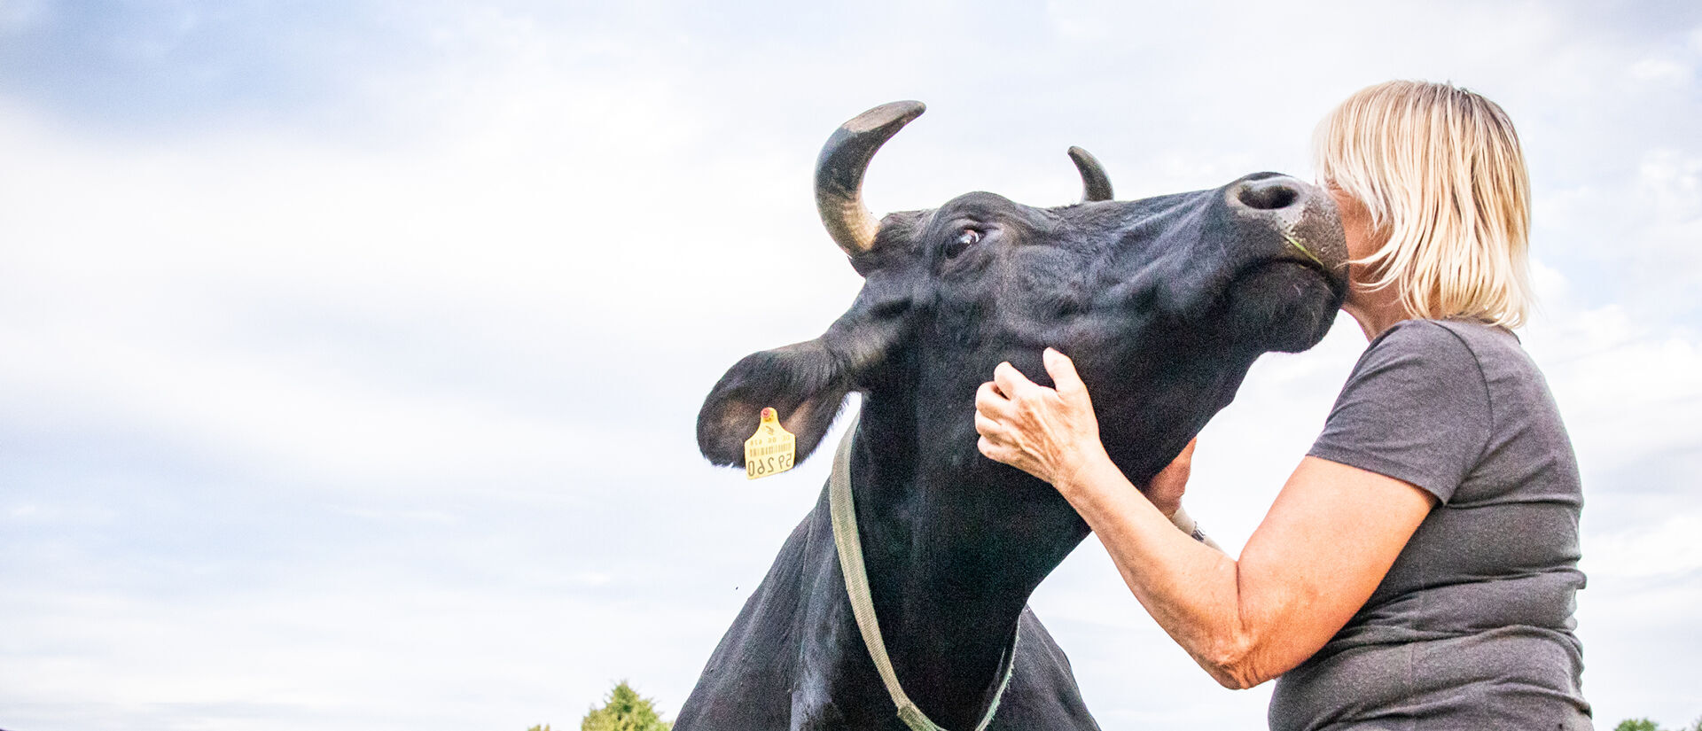
<path fill-rule="evenodd" d="M 1324 337 L 1346 286 L 1341 224 L 1328 194 L 1276 173 L 1098 201 L 1110 185 L 1084 155 L 1081 204 L 972 192 L 877 224 L 863 170 L 921 112 L 887 104 L 827 141 L 817 206 L 863 291 L 822 337 L 739 360 L 698 415 L 698 444 L 715 464 L 742 466 L 759 411 L 774 406 L 803 457 L 861 391 L 851 486 L 904 690 L 934 722 L 968 731 L 1019 632 L 992 728 L 1098 728 L 1026 609 L 1088 525 L 1048 484 L 977 452 L 975 388 L 1001 360 L 1050 384 L 1040 354 L 1057 347 L 1093 393 L 1111 459 L 1142 484 L 1231 401 L 1259 354 Z M 674 728 L 897 731 L 894 711 L 851 615 L 824 490 Z"/>

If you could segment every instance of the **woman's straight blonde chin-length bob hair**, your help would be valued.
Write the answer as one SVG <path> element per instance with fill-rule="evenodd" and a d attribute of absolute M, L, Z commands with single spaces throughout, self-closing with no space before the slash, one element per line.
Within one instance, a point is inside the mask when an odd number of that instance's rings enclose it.
<path fill-rule="evenodd" d="M 1499 105 L 1452 83 L 1367 87 L 1317 124 L 1312 162 L 1389 236 L 1353 264 L 1408 314 L 1525 321 L 1530 175 Z"/>

